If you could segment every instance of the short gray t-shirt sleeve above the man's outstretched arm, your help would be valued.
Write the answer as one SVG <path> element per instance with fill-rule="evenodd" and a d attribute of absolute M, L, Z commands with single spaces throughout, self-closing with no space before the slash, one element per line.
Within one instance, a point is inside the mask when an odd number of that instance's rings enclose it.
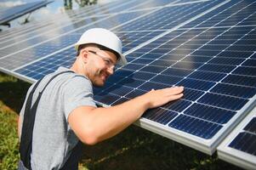
<path fill-rule="evenodd" d="M 94 106 L 94 94 L 91 82 L 82 76 L 72 77 L 64 89 L 64 111 L 67 119 L 71 111 L 79 106 Z"/>

